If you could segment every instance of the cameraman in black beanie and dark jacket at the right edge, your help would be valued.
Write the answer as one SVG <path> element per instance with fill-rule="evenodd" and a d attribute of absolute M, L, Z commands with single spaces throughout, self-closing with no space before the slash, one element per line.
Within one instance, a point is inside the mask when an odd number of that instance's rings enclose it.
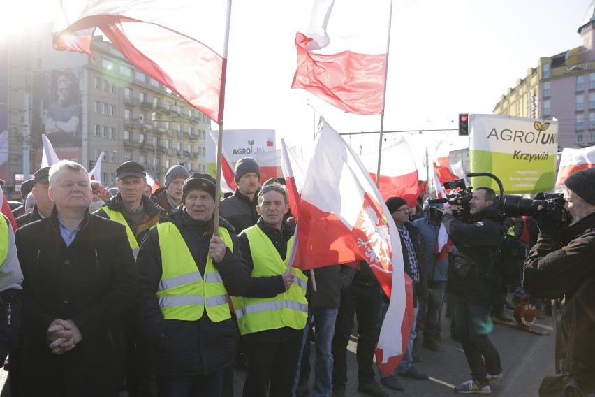
<path fill-rule="evenodd" d="M 557 299 L 559 375 L 544 378 L 540 396 L 550 396 L 545 394 L 550 382 L 565 385 L 573 379 L 585 396 L 591 396 L 595 394 L 595 168 L 573 173 L 564 185 L 564 210 L 570 222 L 568 226 L 553 222 L 548 210 L 538 207 L 534 219 L 540 232 L 524 263 L 523 287 L 532 296 Z"/>

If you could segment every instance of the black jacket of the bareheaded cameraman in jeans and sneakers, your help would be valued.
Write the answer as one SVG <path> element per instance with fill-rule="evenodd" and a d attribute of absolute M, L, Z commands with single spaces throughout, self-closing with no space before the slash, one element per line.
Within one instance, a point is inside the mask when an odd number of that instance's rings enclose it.
<path fill-rule="evenodd" d="M 448 275 L 447 291 L 467 303 L 492 305 L 501 285 L 501 267 L 496 258 L 504 226 L 496 204 L 475 215 L 473 223 L 465 223 L 450 214 L 444 214 L 442 223 L 448 236 L 458 249 L 475 260 L 476 268 L 469 277 L 459 277 L 453 271 Z M 452 270 L 453 266 L 450 266 Z"/>

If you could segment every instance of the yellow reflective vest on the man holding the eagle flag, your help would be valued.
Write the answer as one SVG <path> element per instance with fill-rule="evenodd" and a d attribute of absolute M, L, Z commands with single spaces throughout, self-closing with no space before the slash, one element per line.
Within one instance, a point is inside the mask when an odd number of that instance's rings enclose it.
<path fill-rule="evenodd" d="M 282 260 L 270 239 L 258 227 L 244 230 L 250 244 L 252 255 L 252 277 L 270 277 L 286 273 L 293 237 L 287 242 L 286 259 Z M 235 297 L 233 307 L 240 333 L 246 335 L 267 329 L 279 329 L 284 326 L 303 329 L 306 326 L 308 303 L 306 301 L 307 278 L 301 270 L 291 268 L 295 281 L 284 293 L 274 298 Z"/>

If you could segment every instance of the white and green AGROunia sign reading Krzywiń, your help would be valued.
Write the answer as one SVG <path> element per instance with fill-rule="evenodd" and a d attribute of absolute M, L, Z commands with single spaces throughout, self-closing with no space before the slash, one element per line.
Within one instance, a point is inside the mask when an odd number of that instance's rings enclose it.
<path fill-rule="evenodd" d="M 469 115 L 471 173 L 489 172 L 505 193 L 548 192 L 556 179 L 558 122 L 502 115 Z M 474 177 L 474 188 L 492 187 L 488 177 Z"/>

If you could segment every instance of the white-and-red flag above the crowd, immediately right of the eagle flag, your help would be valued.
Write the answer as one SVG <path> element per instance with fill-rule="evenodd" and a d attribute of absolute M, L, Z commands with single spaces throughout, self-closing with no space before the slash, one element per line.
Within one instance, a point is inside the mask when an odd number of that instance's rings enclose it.
<path fill-rule="evenodd" d="M 378 152 L 362 154 L 360 159 L 372 180 L 376 182 Z M 379 190 L 383 201 L 390 197 L 402 197 L 409 206 L 417 203 L 420 194 L 418 169 L 411 149 L 403 137 L 395 144 L 382 149 Z"/>

